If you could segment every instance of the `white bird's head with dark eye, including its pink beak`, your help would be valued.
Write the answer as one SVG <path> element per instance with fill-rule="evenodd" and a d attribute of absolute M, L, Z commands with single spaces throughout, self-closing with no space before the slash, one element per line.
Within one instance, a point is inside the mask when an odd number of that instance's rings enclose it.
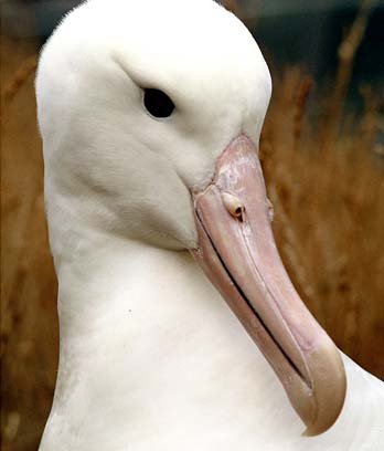
<path fill-rule="evenodd" d="M 58 264 L 56 243 L 83 223 L 190 251 L 319 433 L 345 376 L 273 238 L 257 156 L 270 93 L 255 40 L 214 1 L 81 6 L 36 78 L 51 243 Z"/>

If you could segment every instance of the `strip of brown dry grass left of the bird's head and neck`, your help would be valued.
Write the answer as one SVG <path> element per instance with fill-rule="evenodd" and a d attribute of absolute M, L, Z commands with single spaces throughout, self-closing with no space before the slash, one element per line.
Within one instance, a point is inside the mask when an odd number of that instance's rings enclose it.
<path fill-rule="evenodd" d="M 36 46 L 2 39 L 1 53 L 1 437 L 3 451 L 32 451 L 55 382 L 56 285 L 29 75 Z M 17 72 L 18 80 L 29 75 L 19 90 Z"/>

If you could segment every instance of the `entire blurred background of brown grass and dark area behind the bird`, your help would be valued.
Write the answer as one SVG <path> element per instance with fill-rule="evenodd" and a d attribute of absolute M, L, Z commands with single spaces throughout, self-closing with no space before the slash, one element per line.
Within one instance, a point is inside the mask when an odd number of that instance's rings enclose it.
<path fill-rule="evenodd" d="M 33 82 L 41 45 L 77 3 L 0 1 L 4 451 L 36 450 L 55 385 L 56 280 Z M 384 4 L 225 4 L 254 33 L 273 72 L 260 156 L 281 256 L 337 345 L 383 379 Z"/>

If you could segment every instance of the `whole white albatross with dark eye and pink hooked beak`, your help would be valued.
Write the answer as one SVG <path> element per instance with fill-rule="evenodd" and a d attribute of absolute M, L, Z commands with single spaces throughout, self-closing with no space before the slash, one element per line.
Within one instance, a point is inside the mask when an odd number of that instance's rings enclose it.
<path fill-rule="evenodd" d="M 341 358 L 275 247 L 270 91 L 211 0 L 90 0 L 44 46 L 61 346 L 41 451 L 384 449 L 383 384 Z"/>

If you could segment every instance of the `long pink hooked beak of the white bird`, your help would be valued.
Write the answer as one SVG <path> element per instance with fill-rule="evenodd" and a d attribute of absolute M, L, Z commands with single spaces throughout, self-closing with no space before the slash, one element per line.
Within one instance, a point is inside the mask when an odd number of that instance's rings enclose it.
<path fill-rule="evenodd" d="M 305 433 L 326 431 L 343 407 L 343 363 L 284 269 L 249 138 L 242 135 L 224 150 L 214 180 L 193 192 L 193 201 L 195 260 L 274 368 L 307 426 Z"/>

